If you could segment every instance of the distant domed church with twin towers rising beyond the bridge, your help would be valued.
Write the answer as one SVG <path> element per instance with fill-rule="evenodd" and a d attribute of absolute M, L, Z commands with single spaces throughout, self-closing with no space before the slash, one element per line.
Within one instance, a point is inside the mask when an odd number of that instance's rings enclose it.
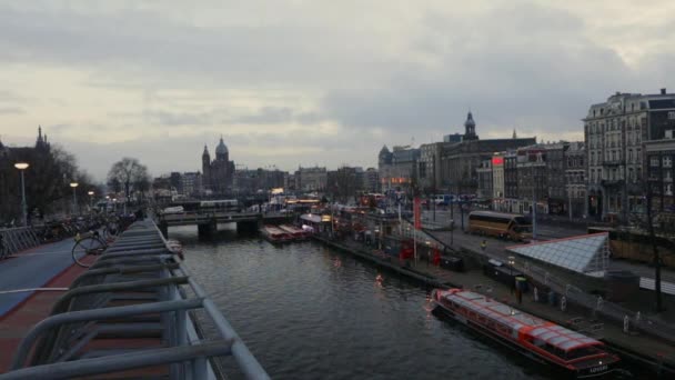
<path fill-rule="evenodd" d="M 202 183 L 204 191 L 213 194 L 224 194 L 232 191 L 234 180 L 234 161 L 230 161 L 230 151 L 220 138 L 215 147 L 215 160 L 211 161 L 209 149 L 204 146 L 202 153 Z"/>

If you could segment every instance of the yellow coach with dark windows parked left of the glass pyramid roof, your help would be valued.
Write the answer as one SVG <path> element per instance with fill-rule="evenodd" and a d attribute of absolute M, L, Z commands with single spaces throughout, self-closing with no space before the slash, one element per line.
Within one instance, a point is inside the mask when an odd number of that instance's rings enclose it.
<path fill-rule="evenodd" d="M 467 231 L 522 241 L 532 238 L 532 223 L 527 218 L 515 213 L 472 211 L 469 214 Z"/>

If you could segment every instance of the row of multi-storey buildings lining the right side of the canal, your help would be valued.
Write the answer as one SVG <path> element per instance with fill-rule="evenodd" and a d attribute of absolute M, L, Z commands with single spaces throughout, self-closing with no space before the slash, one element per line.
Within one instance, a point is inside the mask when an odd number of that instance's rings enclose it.
<path fill-rule="evenodd" d="M 473 114 L 464 134 L 379 153 L 381 189 L 474 194 L 493 209 L 629 220 L 653 197 L 675 212 L 675 94 L 616 92 L 583 118 L 584 141 L 481 140 Z"/>

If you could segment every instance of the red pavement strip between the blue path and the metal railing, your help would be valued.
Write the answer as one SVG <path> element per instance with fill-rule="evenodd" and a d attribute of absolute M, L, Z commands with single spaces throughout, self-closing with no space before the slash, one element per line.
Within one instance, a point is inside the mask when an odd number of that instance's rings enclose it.
<path fill-rule="evenodd" d="M 93 261 L 94 257 L 88 257 Z M 87 268 L 72 264 L 47 281 L 42 288 L 68 288 Z M 47 318 L 63 291 L 36 291 L 0 317 L 0 373 L 8 371 L 14 349 L 39 321 Z"/>

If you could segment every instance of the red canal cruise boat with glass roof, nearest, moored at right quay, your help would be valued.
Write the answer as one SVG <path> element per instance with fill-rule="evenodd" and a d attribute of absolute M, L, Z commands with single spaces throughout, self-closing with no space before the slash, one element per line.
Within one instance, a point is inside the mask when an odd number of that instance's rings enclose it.
<path fill-rule="evenodd" d="M 472 291 L 434 289 L 432 301 L 481 334 L 577 379 L 607 376 L 619 361 L 598 340 Z"/>

